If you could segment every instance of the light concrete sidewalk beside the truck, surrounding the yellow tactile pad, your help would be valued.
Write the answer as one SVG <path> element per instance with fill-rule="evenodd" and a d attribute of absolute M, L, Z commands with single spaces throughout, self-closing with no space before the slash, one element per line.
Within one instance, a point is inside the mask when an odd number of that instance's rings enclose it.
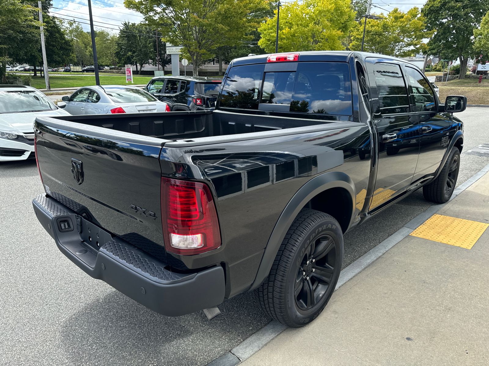
<path fill-rule="evenodd" d="M 489 223 L 489 173 L 437 214 Z M 409 235 L 241 365 L 489 365 L 488 328 L 489 229 L 471 249 Z"/>

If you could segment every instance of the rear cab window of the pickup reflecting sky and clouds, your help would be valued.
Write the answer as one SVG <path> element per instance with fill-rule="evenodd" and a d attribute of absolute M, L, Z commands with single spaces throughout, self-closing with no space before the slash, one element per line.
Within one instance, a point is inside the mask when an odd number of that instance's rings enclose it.
<path fill-rule="evenodd" d="M 233 67 L 220 107 L 303 114 L 353 114 L 346 62 L 299 62 L 296 71 L 265 72 L 265 64 Z"/>

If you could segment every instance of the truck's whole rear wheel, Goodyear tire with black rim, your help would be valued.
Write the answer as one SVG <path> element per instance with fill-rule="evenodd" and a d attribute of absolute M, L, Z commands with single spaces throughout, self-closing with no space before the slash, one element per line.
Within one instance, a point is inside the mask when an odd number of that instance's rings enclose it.
<path fill-rule="evenodd" d="M 341 226 L 324 212 L 304 208 L 290 225 L 255 296 L 271 318 L 292 328 L 304 326 L 330 300 L 342 261 Z"/>

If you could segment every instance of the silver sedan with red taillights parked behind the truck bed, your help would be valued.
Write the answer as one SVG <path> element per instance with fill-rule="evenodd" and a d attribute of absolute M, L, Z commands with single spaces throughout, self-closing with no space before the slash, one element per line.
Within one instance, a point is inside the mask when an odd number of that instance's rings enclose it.
<path fill-rule="evenodd" d="M 62 100 L 73 115 L 170 112 L 168 104 L 135 86 L 84 86 Z"/>

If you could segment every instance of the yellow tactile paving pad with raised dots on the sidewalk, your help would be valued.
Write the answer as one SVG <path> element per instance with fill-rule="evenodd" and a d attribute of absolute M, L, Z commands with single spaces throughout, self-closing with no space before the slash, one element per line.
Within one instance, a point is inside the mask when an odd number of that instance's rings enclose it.
<path fill-rule="evenodd" d="M 433 215 L 410 235 L 471 249 L 488 226 L 477 221 Z"/>

